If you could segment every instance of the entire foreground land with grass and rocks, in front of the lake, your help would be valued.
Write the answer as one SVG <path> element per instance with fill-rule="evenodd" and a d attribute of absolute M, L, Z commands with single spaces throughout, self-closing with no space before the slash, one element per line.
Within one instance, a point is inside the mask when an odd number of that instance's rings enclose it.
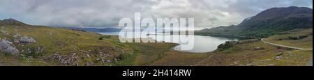
<path fill-rule="evenodd" d="M 19 22 L 1 24 L 0 65 L 300 66 L 308 65 L 313 58 L 312 50 L 276 47 L 256 39 L 226 42 L 213 52 L 190 53 L 172 49 L 176 46 L 172 43 L 123 44 L 117 36 L 76 29 L 31 26 Z M 277 33 L 265 40 L 312 48 L 312 36 L 313 29 L 298 29 Z"/>

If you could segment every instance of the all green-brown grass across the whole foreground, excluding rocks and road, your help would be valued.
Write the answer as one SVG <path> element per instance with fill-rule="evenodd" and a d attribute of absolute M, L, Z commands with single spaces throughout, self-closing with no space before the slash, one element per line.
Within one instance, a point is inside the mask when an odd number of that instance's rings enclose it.
<path fill-rule="evenodd" d="M 75 51 L 80 54 L 82 49 L 84 51 L 99 51 L 94 50 L 95 47 L 120 47 L 126 51 L 125 54 L 117 56 L 121 58 L 118 62 L 96 63 L 96 65 L 306 65 L 313 58 L 313 51 L 278 48 L 264 42 L 236 45 L 224 51 L 197 54 L 174 51 L 172 47 L 176 45 L 171 43 L 123 44 L 118 41 L 117 36 L 98 40 L 101 35 L 97 33 L 45 26 L 0 26 L 0 29 L 8 31 L 8 35 L 0 33 L 0 38 L 7 38 L 8 40 L 16 33 L 33 37 L 37 41 L 36 44 L 16 46 L 20 50 L 26 50 L 41 45 L 45 47 L 43 57 L 50 56 L 54 52 L 68 55 Z M 304 40 L 304 42 L 313 44 L 309 40 Z M 264 49 L 255 50 L 255 47 L 263 47 Z M 281 56 L 281 58 L 274 59 L 276 56 Z M 84 58 L 79 64 L 83 65 L 96 57 L 97 55 L 91 54 L 91 58 Z M 5 65 L 61 65 L 56 62 L 43 61 L 42 58 L 28 61 L 21 56 L 4 54 L 0 54 L 0 58 L 0 61 Z"/>

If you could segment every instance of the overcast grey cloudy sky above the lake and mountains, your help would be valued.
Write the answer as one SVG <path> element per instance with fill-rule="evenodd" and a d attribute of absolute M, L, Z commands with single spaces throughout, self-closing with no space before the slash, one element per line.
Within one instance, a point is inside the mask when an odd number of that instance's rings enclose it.
<path fill-rule="evenodd" d="M 33 25 L 114 27 L 135 13 L 151 18 L 194 18 L 195 27 L 239 24 L 274 7 L 313 8 L 313 0 L 0 0 L 0 19 Z"/>

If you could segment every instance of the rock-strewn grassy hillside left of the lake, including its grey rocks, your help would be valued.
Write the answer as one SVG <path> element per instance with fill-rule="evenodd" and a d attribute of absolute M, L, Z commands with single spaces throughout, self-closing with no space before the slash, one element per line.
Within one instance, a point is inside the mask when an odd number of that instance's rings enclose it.
<path fill-rule="evenodd" d="M 4 65 L 115 65 L 132 52 L 128 45 L 98 33 L 31 26 L 15 19 L 0 24 Z"/>

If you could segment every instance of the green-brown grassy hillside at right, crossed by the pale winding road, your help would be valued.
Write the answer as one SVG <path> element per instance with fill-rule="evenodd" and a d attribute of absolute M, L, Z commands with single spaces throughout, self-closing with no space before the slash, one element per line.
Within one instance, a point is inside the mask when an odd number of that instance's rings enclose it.
<path fill-rule="evenodd" d="M 226 42 L 218 51 L 196 65 L 201 66 L 307 66 L 313 64 L 313 29 L 285 31 L 265 38 L 267 42 L 291 49 L 269 45 L 260 40 Z M 308 50 L 309 49 L 309 50 Z"/>

